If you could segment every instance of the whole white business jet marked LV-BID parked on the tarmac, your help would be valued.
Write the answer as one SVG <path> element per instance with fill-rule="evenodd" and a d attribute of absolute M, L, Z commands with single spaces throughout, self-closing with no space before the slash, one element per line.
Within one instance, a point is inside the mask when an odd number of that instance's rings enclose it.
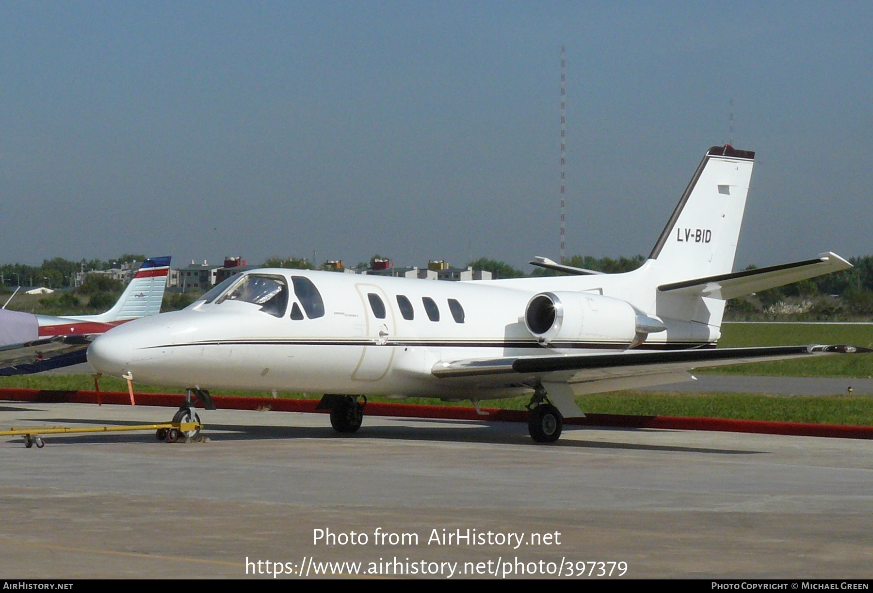
<path fill-rule="evenodd" d="M 324 393 L 333 428 L 361 426 L 366 396 L 530 396 L 533 440 L 581 417 L 574 396 L 691 380 L 691 369 L 849 346 L 715 348 L 725 300 L 850 267 L 834 253 L 732 272 L 754 153 L 711 148 L 633 272 L 437 282 L 261 269 L 182 311 L 130 321 L 93 341 L 102 373 L 189 388 Z M 363 399 L 363 403 L 359 402 Z M 195 417 L 183 407 L 176 419 Z"/>

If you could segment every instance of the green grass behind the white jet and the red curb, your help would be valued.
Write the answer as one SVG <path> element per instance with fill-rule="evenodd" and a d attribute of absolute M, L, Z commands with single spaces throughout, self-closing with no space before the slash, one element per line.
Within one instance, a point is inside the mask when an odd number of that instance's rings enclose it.
<path fill-rule="evenodd" d="M 779 346 L 785 344 L 852 344 L 873 348 L 873 326 L 850 324 L 725 324 L 719 347 Z M 873 376 L 873 355 L 830 355 L 783 362 L 760 362 L 719 367 L 703 372 L 768 376 Z M 695 371 L 698 373 L 698 371 Z M 93 390 L 87 375 L 30 375 L 0 377 L 0 387 L 41 390 Z M 127 383 L 103 377 L 100 389 L 126 391 Z M 183 393 L 163 387 L 136 385 L 141 392 Z M 214 391 L 215 395 L 272 397 L 266 391 Z M 280 397 L 319 397 L 319 394 L 279 393 Z M 396 401 L 374 398 L 373 401 Z M 440 400 L 409 398 L 405 403 L 444 404 Z M 780 420 L 822 424 L 873 425 L 873 396 L 766 396 L 745 393 L 667 393 L 616 391 L 576 398 L 582 410 L 604 414 L 651 416 L 722 417 Z M 485 407 L 522 410 L 526 398 L 491 400 Z M 448 403 L 448 405 L 469 405 Z"/>

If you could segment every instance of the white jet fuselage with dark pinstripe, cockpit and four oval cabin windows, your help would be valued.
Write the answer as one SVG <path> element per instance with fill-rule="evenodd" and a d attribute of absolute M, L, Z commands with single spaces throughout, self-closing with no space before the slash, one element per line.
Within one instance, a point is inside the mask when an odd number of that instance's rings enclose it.
<path fill-rule="evenodd" d="M 630 274 L 637 272 L 644 271 Z M 628 348 L 628 328 L 619 331 L 626 321 L 604 318 L 595 302 L 632 284 L 622 276 L 440 282 L 257 270 L 182 311 L 113 328 L 94 341 L 88 360 L 109 375 L 167 386 L 468 397 L 469 386 L 447 390 L 431 375 L 437 362 Z M 547 289 L 588 291 L 591 303 L 579 313 L 593 329 L 553 343 L 533 335 L 526 306 Z M 706 324 L 667 320 L 667 328 L 641 347 L 690 348 L 718 337 Z M 526 389 L 505 386 L 490 396 Z"/>

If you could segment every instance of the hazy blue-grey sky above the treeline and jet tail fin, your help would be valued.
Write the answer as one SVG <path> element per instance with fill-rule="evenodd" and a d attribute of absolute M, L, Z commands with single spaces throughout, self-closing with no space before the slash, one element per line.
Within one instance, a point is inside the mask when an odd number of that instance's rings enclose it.
<path fill-rule="evenodd" d="M 873 252 L 870 3 L 3 3 L 0 261 L 648 253 L 758 153 L 737 265 Z"/>

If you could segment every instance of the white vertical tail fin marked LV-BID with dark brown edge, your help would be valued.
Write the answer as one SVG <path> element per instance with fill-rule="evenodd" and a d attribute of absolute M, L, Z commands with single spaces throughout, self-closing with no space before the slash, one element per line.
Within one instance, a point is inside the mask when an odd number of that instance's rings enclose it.
<path fill-rule="evenodd" d="M 663 282 L 732 271 L 755 154 L 710 148 L 649 256 Z"/>

